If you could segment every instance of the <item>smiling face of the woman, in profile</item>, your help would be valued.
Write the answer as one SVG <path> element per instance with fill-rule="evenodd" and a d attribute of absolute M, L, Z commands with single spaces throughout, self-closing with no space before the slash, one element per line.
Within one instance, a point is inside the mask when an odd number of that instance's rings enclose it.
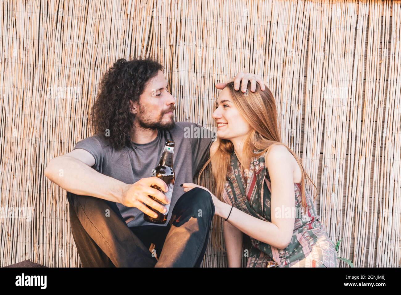
<path fill-rule="evenodd" d="M 251 130 L 235 107 L 227 87 L 220 92 L 212 117 L 216 121 L 218 138 L 232 140 L 245 136 Z"/>

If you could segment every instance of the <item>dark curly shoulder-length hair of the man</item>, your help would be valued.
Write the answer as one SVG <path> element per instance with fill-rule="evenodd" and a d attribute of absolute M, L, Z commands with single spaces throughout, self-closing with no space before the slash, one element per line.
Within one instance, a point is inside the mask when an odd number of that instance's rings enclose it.
<path fill-rule="evenodd" d="M 93 134 L 103 136 L 117 150 L 128 146 L 135 118 L 130 101 L 138 102 L 146 83 L 163 69 L 152 58 L 118 59 L 99 84 L 99 95 L 91 110 Z"/>

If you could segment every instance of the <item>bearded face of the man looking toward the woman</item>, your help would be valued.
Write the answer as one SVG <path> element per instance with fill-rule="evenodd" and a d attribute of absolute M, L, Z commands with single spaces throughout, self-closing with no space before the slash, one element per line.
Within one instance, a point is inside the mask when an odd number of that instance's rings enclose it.
<path fill-rule="evenodd" d="M 168 130 L 174 127 L 175 98 L 166 90 L 167 81 L 162 71 L 150 79 L 139 98 L 135 120 L 145 129 Z"/>

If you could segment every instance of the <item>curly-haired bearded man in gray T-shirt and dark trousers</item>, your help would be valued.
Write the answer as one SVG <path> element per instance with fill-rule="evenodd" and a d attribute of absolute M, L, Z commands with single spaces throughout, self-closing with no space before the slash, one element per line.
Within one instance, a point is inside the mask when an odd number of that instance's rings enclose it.
<path fill-rule="evenodd" d="M 166 90 L 163 67 L 152 59 L 119 59 L 105 73 L 91 112 L 95 135 L 79 141 L 73 151 L 52 159 L 45 175 L 67 190 L 70 223 L 83 267 L 199 267 L 205 254 L 215 208 L 203 189 L 184 193 L 209 157 L 214 134 L 186 138 L 188 128 L 174 122 L 175 99 Z M 263 81 L 239 73 L 245 92 Z M 216 84 L 223 89 L 225 83 Z M 188 134 L 188 132 L 187 132 Z M 166 224 L 151 224 L 144 214 L 164 212 L 164 181 L 150 177 L 166 139 L 175 141 L 176 178 Z"/>

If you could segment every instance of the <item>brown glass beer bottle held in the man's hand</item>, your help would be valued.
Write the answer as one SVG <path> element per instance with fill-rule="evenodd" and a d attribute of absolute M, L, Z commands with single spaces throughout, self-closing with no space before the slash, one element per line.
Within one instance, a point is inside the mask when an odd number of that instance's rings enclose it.
<path fill-rule="evenodd" d="M 168 191 L 164 192 L 160 187 L 157 185 L 152 185 L 154 189 L 158 189 L 164 195 L 166 195 L 167 199 L 170 200 L 171 203 L 171 197 L 172 197 L 172 192 L 173 192 L 173 186 L 174 186 L 174 179 L 175 179 L 175 174 L 173 170 L 173 157 L 174 157 L 174 140 L 166 140 L 166 144 L 164 146 L 164 151 L 162 153 L 162 157 L 160 158 L 159 165 L 155 169 L 152 170 L 152 176 L 159 177 L 162 179 L 167 187 Z M 144 214 L 144 220 L 147 222 L 152 222 L 156 224 L 165 224 L 167 221 L 167 215 L 168 215 L 168 209 L 170 208 L 170 203 L 164 204 L 162 201 L 159 201 L 155 197 L 149 195 L 152 199 L 154 199 L 156 202 L 164 205 L 167 209 L 166 213 L 161 213 L 158 212 L 158 210 L 150 207 L 149 205 L 145 204 L 150 210 L 155 212 L 157 214 L 156 218 L 150 217 L 147 214 Z"/>

